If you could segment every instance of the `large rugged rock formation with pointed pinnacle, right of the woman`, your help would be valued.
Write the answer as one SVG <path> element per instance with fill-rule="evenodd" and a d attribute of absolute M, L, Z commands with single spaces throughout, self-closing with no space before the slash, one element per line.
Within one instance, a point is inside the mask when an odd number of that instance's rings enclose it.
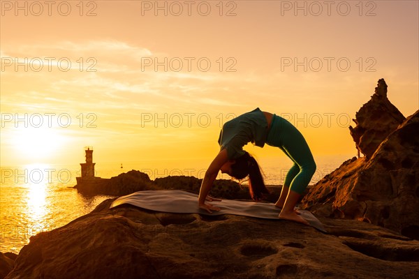
<path fill-rule="evenodd" d="M 419 111 L 397 124 L 402 116 L 383 100 L 385 89 L 385 82 L 378 81 L 372 100 L 357 113 L 361 127 L 368 121 L 374 123 L 365 129 L 359 143 L 354 137 L 365 156 L 347 160 L 318 181 L 302 199 L 302 208 L 318 216 L 362 220 L 418 239 Z M 395 128 L 385 135 L 384 130 L 391 126 Z"/>

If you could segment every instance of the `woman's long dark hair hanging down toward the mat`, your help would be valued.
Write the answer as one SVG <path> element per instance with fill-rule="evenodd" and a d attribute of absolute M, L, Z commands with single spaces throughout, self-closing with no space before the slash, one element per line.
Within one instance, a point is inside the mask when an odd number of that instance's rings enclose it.
<path fill-rule="evenodd" d="M 258 162 L 249 153 L 235 159 L 235 163 L 231 165 L 231 176 L 235 179 L 244 179 L 249 175 L 249 190 L 251 198 L 254 200 L 263 199 L 263 194 L 269 194 L 260 173 Z"/>

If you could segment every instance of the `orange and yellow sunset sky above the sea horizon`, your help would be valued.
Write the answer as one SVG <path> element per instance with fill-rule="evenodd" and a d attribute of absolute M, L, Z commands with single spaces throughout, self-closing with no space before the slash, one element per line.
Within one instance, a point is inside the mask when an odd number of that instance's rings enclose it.
<path fill-rule="evenodd" d="M 1 165 L 77 164 L 88 145 L 96 162 L 210 163 L 222 123 L 256 107 L 315 156 L 355 155 L 349 121 L 378 79 L 418 110 L 418 1 L 332 2 L 0 1 Z"/>

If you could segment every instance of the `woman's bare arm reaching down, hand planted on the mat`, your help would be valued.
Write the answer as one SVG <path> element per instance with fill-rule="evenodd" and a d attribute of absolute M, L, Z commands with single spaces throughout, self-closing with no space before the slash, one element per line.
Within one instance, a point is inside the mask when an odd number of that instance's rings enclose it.
<path fill-rule="evenodd" d="M 216 179 L 216 176 L 218 175 L 221 166 L 224 165 L 224 163 L 226 163 L 227 160 L 227 149 L 223 149 L 218 153 L 214 160 L 212 160 L 210 167 L 208 167 L 207 172 L 205 172 L 205 176 L 203 179 L 203 183 L 201 184 L 198 197 L 198 206 L 200 207 L 200 209 L 205 209 L 210 213 L 212 213 L 211 210 L 220 210 L 218 207 L 212 206 L 212 204 L 205 204 L 205 198 L 207 197 L 208 193 L 210 193 L 212 183 L 214 183 L 214 180 Z"/>

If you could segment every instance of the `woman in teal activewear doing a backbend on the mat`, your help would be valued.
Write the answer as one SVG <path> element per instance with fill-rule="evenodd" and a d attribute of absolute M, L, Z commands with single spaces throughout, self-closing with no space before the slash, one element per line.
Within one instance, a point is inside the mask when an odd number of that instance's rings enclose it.
<path fill-rule="evenodd" d="M 259 200 L 264 193 L 269 193 L 258 163 L 243 150 L 243 146 L 248 142 L 260 147 L 266 143 L 279 147 L 294 163 L 286 175 L 281 195 L 275 203 L 275 206 L 281 209 L 279 218 L 307 224 L 307 221 L 294 210 L 294 206 L 316 171 L 316 163 L 307 142 L 297 128 L 280 116 L 256 108 L 226 122 L 221 129 L 218 142 L 220 152 L 205 172 L 200 187 L 198 197 L 200 209 L 210 213 L 221 210 L 219 207 L 205 203 L 205 200 L 220 200 L 208 196 L 220 170 L 235 179 L 244 179 L 249 175 L 252 199 Z"/>

